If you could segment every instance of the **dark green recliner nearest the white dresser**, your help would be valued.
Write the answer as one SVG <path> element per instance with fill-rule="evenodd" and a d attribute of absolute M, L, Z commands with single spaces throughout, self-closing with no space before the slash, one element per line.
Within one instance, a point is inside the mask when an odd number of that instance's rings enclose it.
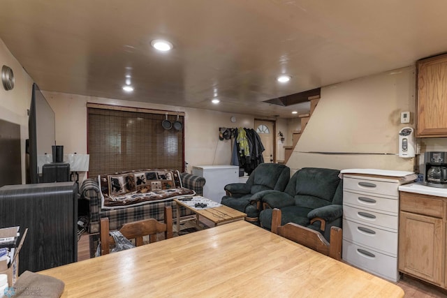
<path fill-rule="evenodd" d="M 343 183 L 339 170 L 304 167 L 293 174 L 284 192 L 263 191 L 254 200 L 263 202 L 259 220 L 271 229 L 272 209 L 281 209 L 281 225 L 298 223 L 318 230 L 330 240 L 330 228 L 342 228 Z"/>

